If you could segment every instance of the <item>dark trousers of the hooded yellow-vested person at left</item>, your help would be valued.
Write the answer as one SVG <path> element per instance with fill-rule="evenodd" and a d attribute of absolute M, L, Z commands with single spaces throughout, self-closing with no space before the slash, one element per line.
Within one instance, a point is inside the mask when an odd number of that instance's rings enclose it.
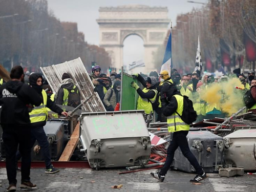
<path fill-rule="evenodd" d="M 36 140 L 40 146 L 40 150 L 42 151 L 42 154 L 44 155 L 46 169 L 49 169 L 51 166 L 51 154 L 49 149 L 48 138 L 46 136 L 43 126 L 33 127 L 31 129 L 30 148 L 34 146 Z M 17 152 L 16 161 L 18 161 L 20 157 L 21 157 L 20 153 Z"/>

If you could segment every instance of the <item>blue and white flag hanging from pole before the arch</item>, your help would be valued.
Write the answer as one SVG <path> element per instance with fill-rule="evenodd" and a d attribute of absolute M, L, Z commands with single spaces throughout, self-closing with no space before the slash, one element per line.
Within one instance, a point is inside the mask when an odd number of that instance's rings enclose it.
<path fill-rule="evenodd" d="M 173 62 L 172 62 L 172 30 L 170 31 L 170 36 L 168 38 L 168 42 L 166 45 L 164 57 L 163 57 L 163 63 L 161 67 L 161 71 L 166 70 L 169 72 L 173 68 Z"/>

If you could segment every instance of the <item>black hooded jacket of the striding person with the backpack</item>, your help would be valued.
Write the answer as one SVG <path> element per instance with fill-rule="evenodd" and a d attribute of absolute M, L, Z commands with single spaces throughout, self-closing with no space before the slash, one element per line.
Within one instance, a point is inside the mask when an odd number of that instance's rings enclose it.
<path fill-rule="evenodd" d="M 164 83 L 161 90 L 162 113 L 164 116 L 170 116 L 178 109 L 178 102 L 174 95 L 181 95 L 176 86 Z"/>

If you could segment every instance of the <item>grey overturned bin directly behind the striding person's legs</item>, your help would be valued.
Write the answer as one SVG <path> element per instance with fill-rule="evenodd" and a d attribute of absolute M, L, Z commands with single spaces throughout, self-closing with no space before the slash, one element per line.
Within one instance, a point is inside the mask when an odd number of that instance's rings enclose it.
<path fill-rule="evenodd" d="M 206 129 L 190 128 L 187 134 L 187 141 L 190 151 L 195 155 L 205 173 L 218 172 L 218 167 L 224 164 L 225 147 L 223 138 Z M 171 167 L 187 173 L 196 171 L 183 156 L 180 147 L 175 152 Z"/>

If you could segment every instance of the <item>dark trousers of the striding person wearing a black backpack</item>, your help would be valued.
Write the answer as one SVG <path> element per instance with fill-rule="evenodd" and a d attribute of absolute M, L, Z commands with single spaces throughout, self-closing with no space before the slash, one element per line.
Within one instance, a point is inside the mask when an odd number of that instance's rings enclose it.
<path fill-rule="evenodd" d="M 167 158 L 163 168 L 161 169 L 160 175 L 165 175 L 167 173 L 168 169 L 170 168 L 170 165 L 174 160 L 174 153 L 178 147 L 180 147 L 182 154 L 187 158 L 190 164 L 194 166 L 197 174 L 202 175 L 204 173 L 196 157 L 189 150 L 189 146 L 186 138 L 187 134 L 188 134 L 188 131 L 174 132 L 173 140 L 170 142 L 170 145 L 167 149 Z"/>

